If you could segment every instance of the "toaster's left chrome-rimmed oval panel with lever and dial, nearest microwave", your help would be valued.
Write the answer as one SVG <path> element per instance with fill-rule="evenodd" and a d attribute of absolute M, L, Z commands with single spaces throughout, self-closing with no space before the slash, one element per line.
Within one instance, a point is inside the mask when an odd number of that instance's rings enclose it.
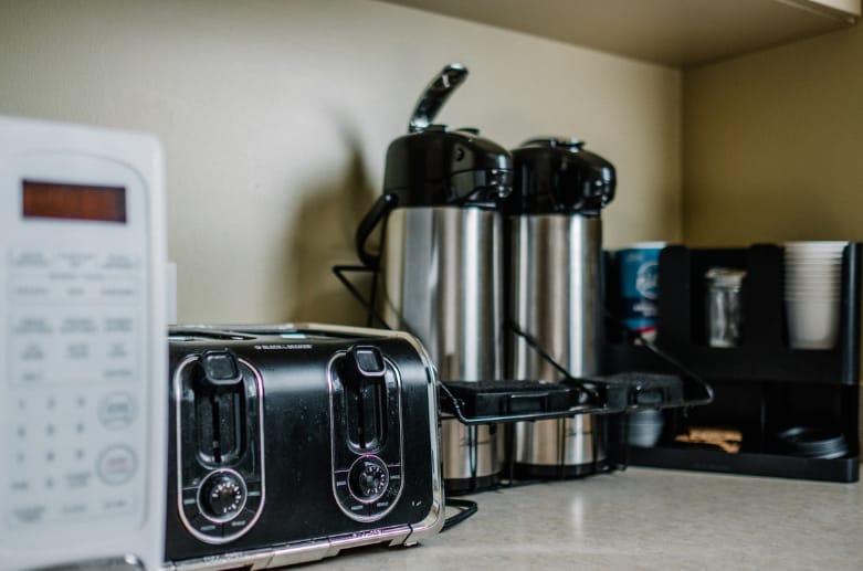
<path fill-rule="evenodd" d="M 263 381 L 228 349 L 178 368 L 178 508 L 189 532 L 227 543 L 248 532 L 264 503 Z"/>

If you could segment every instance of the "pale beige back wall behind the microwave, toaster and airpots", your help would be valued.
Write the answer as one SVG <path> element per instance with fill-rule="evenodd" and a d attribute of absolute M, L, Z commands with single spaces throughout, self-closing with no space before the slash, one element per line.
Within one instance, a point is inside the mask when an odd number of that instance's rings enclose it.
<path fill-rule="evenodd" d="M 432 74 L 440 119 L 577 136 L 619 170 L 606 244 L 678 240 L 681 72 L 370 0 L 0 0 L 0 113 L 155 133 L 181 321 L 352 321 L 330 276 Z"/>

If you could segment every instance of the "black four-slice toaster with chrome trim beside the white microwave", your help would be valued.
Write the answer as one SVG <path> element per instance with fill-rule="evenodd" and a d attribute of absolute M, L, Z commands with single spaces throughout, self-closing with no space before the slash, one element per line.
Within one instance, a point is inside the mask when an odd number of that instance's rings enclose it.
<path fill-rule="evenodd" d="M 266 569 L 443 525 L 436 377 L 410 335 L 175 327 L 167 570 Z"/>

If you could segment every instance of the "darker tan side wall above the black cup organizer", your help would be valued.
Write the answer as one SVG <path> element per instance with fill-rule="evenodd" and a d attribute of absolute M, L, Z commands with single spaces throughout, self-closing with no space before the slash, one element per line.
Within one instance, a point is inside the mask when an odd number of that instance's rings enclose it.
<path fill-rule="evenodd" d="M 863 25 L 684 73 L 684 237 L 863 240 Z"/>

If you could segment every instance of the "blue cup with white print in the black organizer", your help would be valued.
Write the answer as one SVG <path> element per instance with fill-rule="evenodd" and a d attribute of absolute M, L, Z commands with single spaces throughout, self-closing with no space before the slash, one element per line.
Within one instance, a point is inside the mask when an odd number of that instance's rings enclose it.
<path fill-rule="evenodd" d="M 639 242 L 619 250 L 621 317 L 630 331 L 656 337 L 660 294 L 660 252 L 664 242 Z"/>

